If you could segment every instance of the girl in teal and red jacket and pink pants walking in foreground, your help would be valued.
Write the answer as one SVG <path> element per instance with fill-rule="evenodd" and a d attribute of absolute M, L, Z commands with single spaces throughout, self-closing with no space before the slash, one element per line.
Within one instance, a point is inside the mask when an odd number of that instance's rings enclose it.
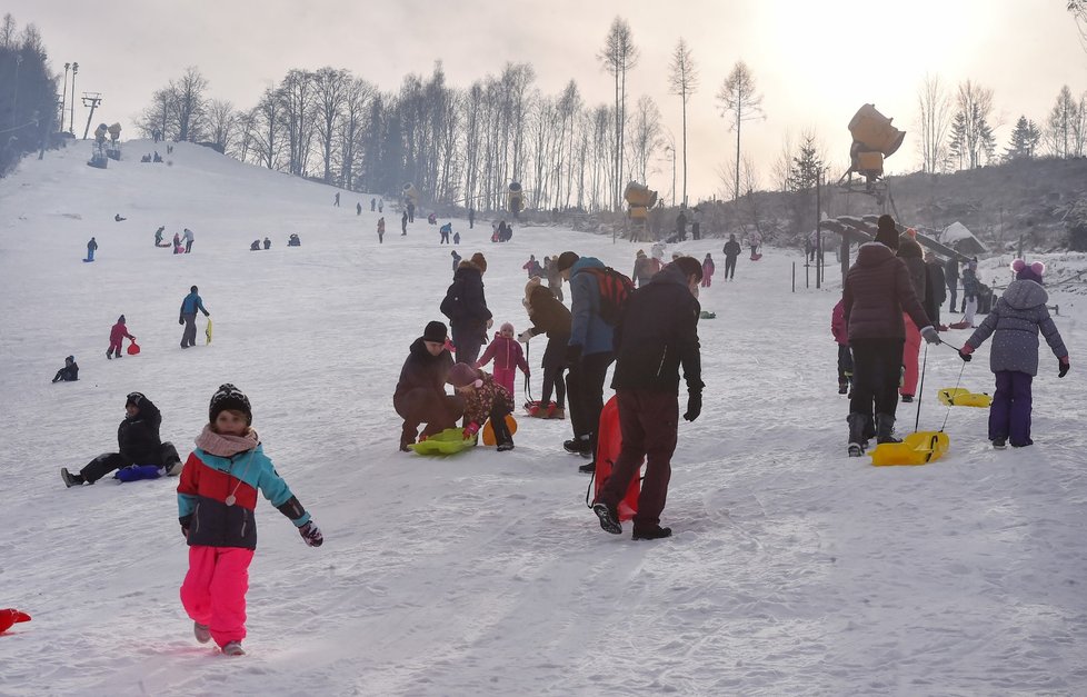
<path fill-rule="evenodd" d="M 229 382 L 220 385 L 208 411 L 209 424 L 178 484 L 178 519 L 189 545 L 181 604 L 197 641 L 215 639 L 225 655 L 240 656 L 249 564 L 257 548 L 257 492 L 310 547 L 320 547 L 325 537 L 265 455 L 251 428 L 249 398 Z"/>

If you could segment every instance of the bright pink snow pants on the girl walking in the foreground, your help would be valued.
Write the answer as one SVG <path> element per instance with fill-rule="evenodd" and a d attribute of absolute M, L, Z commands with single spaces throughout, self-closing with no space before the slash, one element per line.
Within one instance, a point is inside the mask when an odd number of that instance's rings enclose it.
<path fill-rule="evenodd" d="M 246 591 L 253 550 L 243 547 L 189 547 L 189 572 L 181 605 L 193 621 L 207 625 L 220 647 L 246 638 Z"/>

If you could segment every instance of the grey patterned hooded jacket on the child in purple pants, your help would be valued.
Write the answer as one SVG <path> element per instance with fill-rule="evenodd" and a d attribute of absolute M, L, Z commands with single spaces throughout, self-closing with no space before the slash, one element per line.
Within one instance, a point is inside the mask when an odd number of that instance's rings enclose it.
<path fill-rule="evenodd" d="M 989 351 L 989 369 L 993 372 L 1016 370 L 1038 375 L 1039 331 L 1054 356 L 1064 358 L 1068 355 L 1060 332 L 1049 317 L 1047 300 L 1049 295 L 1039 283 L 1028 280 L 1011 281 L 997 300 L 996 307 L 966 342 L 976 349 L 993 335 L 993 348 Z"/>

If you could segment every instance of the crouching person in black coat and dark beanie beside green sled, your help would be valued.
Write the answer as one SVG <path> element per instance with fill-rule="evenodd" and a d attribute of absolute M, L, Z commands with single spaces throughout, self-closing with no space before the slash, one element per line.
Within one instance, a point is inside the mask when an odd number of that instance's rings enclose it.
<path fill-rule="evenodd" d="M 446 394 L 446 377 L 452 368 L 452 356 L 446 350 L 446 326 L 427 325 L 422 336 L 411 342 L 408 358 L 400 369 L 400 380 L 392 395 L 392 406 L 403 418 L 400 449 L 407 451 L 416 441 L 419 425 L 423 436 L 432 436 L 457 425 L 465 411 L 460 397 Z"/>

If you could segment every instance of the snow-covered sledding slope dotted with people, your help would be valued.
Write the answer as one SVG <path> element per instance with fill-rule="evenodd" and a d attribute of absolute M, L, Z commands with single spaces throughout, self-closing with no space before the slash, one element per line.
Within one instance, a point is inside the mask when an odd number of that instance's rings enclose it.
<path fill-rule="evenodd" d="M 139 163 L 156 147 L 172 166 Z M 507 454 L 397 451 L 400 365 L 451 277 L 437 227 L 401 237 L 387 202 L 379 246 L 369 196 L 333 208 L 331 188 L 183 143 L 167 156 L 133 141 L 126 157 L 92 169 L 79 143 L 0 180 L 0 607 L 33 617 L 0 636 L 0 694 L 1087 690 L 1081 297 L 1051 300 L 1073 370 L 1058 380 L 1043 349 L 1033 448 L 994 451 L 986 411 L 937 405 L 963 364 L 935 347 L 920 426 L 947 416 L 950 452 L 877 469 L 845 456 L 838 283 L 792 293 L 799 255 L 741 259 L 735 282 L 701 293 L 717 319 L 700 323 L 705 408 L 681 424 L 674 460 L 664 522 L 676 536 L 635 544 L 585 508 L 581 460 L 560 445 L 568 421 L 521 419 Z M 192 253 L 156 249 L 160 225 L 167 239 L 191 228 Z M 488 258 L 496 321 L 518 331 L 529 253 L 574 249 L 626 272 L 639 248 L 455 229 L 460 253 Z M 302 247 L 286 247 L 291 232 Z M 92 235 L 97 260 L 82 263 Z M 250 252 L 266 235 L 272 249 Z M 677 248 L 722 268 L 719 243 Z M 983 280 L 1006 278 L 1007 261 L 983 262 Z M 177 312 L 193 283 L 216 336 L 182 351 Z M 107 361 L 121 313 L 143 351 Z M 530 346 L 537 396 L 542 349 Z M 51 385 L 69 354 L 80 380 Z M 991 390 L 987 354 L 963 387 Z M 187 455 L 225 381 L 249 395 L 266 451 L 326 535 L 308 548 L 258 505 L 249 655 L 229 659 L 196 644 L 178 599 L 176 480 L 68 490 L 58 476 L 116 448 L 132 390 Z M 917 406 L 901 406 L 900 430 Z"/>

